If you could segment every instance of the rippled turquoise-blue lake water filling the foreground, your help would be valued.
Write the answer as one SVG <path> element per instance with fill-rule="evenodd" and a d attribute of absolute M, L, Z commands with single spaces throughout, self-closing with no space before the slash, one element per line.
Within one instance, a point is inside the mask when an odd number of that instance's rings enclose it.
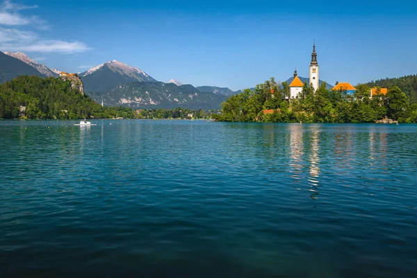
<path fill-rule="evenodd" d="M 0 121 L 3 277 L 417 277 L 417 125 Z"/>

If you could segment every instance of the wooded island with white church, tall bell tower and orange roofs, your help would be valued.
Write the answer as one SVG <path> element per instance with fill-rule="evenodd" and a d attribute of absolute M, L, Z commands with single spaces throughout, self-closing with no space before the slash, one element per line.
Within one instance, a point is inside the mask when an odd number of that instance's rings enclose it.
<path fill-rule="evenodd" d="M 318 76 L 315 44 L 309 72 L 310 78 L 304 82 L 295 70 L 289 85 L 271 78 L 252 90 L 233 95 L 222 104 L 222 113 L 213 118 L 222 122 L 417 122 L 416 101 L 410 101 L 399 88 L 399 85 L 413 84 L 408 86 L 415 92 L 417 76 L 379 82 L 388 88 L 381 88 L 375 82 L 359 84 L 356 88 L 347 82 L 336 82 L 329 88 Z"/>

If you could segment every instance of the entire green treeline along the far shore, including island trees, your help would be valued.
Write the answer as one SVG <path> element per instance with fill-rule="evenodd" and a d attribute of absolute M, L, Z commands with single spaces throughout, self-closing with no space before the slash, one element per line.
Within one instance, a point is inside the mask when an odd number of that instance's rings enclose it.
<path fill-rule="evenodd" d="M 380 93 L 378 85 L 388 88 Z M 376 87 L 376 88 L 375 88 Z M 375 88 L 375 95 L 370 89 Z M 216 111 L 175 109 L 132 109 L 101 106 L 72 87 L 70 81 L 39 76 L 19 76 L 0 84 L 0 119 L 201 119 L 224 122 L 375 122 L 388 117 L 398 122 L 417 122 L 417 76 L 382 79 L 356 86 L 353 95 L 327 90 L 326 83 L 314 92 L 304 83 L 290 99 L 287 83 L 271 78 L 224 101 Z"/>

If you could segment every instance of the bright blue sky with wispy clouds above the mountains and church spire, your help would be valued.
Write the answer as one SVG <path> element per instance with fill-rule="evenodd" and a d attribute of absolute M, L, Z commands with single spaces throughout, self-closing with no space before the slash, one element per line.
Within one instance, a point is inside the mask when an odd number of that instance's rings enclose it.
<path fill-rule="evenodd" d="M 0 0 L 0 3 L 3 0 Z M 3 1 L 0 51 L 84 72 L 107 60 L 158 81 L 248 88 L 294 68 L 357 83 L 417 74 L 414 1 Z"/>

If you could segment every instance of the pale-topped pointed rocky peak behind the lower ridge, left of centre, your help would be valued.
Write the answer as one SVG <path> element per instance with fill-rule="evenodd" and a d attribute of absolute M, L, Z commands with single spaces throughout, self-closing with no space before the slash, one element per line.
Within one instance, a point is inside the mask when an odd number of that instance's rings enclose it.
<path fill-rule="evenodd" d="M 85 92 L 108 92 L 118 85 L 131 82 L 156 82 L 146 72 L 117 60 L 108 61 L 80 74 Z"/>

